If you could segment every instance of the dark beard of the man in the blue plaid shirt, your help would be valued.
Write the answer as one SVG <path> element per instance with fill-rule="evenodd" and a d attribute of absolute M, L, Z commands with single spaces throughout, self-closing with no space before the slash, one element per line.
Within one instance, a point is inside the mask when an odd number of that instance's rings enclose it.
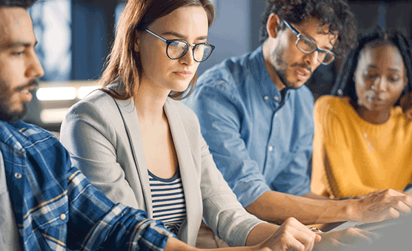
<path fill-rule="evenodd" d="M 16 89 L 10 90 L 6 88 L 5 83 L 1 83 L 3 87 L 0 88 L 0 120 L 8 123 L 14 123 L 21 120 L 25 113 L 27 113 L 27 103 L 22 102 L 23 108 L 20 111 L 12 111 L 10 109 L 10 97 L 12 97 L 16 92 L 19 92 L 27 87 L 32 87 L 38 85 L 36 80 L 32 80 L 29 83 L 17 87 Z"/>

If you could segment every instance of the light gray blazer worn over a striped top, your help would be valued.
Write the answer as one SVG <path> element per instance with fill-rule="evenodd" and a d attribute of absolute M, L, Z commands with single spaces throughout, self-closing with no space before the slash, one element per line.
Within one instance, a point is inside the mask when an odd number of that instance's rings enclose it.
<path fill-rule="evenodd" d="M 122 85 L 113 84 L 117 91 Z M 202 216 L 207 225 L 231 246 L 245 244 L 260 219 L 236 199 L 216 168 L 201 135 L 196 114 L 182 102 L 168 98 L 165 113 L 174 139 L 187 219 L 178 238 L 196 244 Z M 62 122 L 60 141 L 74 166 L 109 199 L 139 208 L 152 217 L 152 197 L 139 119 L 133 99 L 116 100 L 95 91 L 73 105 Z"/>

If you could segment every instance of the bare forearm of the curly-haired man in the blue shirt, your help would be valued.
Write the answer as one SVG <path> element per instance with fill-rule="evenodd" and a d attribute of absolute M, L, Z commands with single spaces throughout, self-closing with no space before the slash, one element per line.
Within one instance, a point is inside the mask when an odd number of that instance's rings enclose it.
<path fill-rule="evenodd" d="M 246 210 L 265 221 L 282 224 L 295 217 L 304 224 L 347 221 L 355 213 L 352 201 L 310 199 L 268 191 L 256 199 Z"/>

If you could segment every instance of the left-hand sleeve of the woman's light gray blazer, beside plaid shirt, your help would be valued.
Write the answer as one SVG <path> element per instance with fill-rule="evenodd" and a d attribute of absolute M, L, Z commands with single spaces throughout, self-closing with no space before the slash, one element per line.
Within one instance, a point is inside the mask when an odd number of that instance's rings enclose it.
<path fill-rule="evenodd" d="M 140 208 L 125 179 L 124 166 L 117 162 L 117 133 L 107 111 L 113 104 L 82 101 L 73 106 L 62 122 L 60 142 L 91 184 L 116 203 Z M 112 113 L 113 115 L 113 113 Z"/>

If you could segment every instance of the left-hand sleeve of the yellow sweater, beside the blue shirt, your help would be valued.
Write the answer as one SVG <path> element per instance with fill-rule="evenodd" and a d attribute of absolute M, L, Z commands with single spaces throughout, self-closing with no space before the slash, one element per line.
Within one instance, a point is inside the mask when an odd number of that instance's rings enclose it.
<path fill-rule="evenodd" d="M 315 130 L 317 153 L 322 170 L 317 170 L 318 180 L 327 181 L 325 188 L 334 197 L 347 197 L 371 193 L 376 188 L 363 184 L 360 169 L 354 163 L 356 148 L 354 133 L 349 132 L 350 114 L 339 104 L 339 98 L 321 98 L 315 105 Z M 319 140 L 319 142 L 316 142 Z"/>

